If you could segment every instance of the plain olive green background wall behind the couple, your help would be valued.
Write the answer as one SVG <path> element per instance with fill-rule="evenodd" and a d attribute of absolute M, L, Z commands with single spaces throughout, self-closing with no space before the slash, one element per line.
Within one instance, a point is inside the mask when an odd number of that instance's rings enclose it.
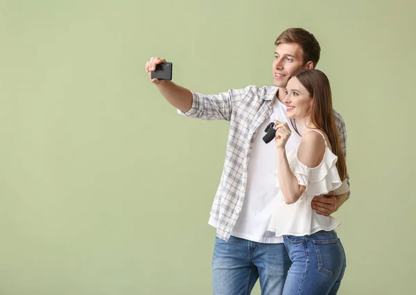
<path fill-rule="evenodd" d="M 228 124 L 177 115 L 144 66 L 205 94 L 270 85 L 298 26 L 347 124 L 339 294 L 415 294 L 412 2 L 0 1 L 0 294 L 211 294 Z"/>

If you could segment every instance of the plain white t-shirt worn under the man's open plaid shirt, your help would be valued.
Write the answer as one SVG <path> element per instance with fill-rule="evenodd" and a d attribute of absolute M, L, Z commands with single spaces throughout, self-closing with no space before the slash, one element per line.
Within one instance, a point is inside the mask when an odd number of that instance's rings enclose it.
<path fill-rule="evenodd" d="M 292 135 L 286 143 L 286 151 L 291 151 L 300 143 L 300 136 L 293 130 L 291 122 L 286 118 L 286 106 L 276 96 L 272 102 L 272 109 L 272 115 L 259 126 L 252 145 L 243 208 L 231 233 L 234 237 L 261 243 L 283 242 L 282 237 L 276 237 L 275 233 L 267 230 L 275 209 L 279 187 L 276 186 L 275 176 L 277 169 L 275 140 L 268 144 L 263 142 L 263 136 L 266 135 L 264 129 L 275 119 L 287 122 Z M 298 127 L 297 130 L 300 128 Z M 209 224 L 216 227 L 216 219 L 211 217 Z"/>

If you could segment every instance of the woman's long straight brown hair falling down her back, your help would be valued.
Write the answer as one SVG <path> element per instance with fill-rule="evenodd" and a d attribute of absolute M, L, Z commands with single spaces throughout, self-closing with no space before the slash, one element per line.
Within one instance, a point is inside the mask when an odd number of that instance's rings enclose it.
<path fill-rule="evenodd" d="M 327 75 L 319 69 L 303 69 L 291 78 L 293 77 L 296 77 L 311 95 L 313 103 L 306 116 L 310 116 L 312 124 L 320 128 L 320 130 L 323 130 L 324 133 L 327 133 L 332 152 L 338 157 L 336 168 L 338 169 L 341 180 L 345 180 L 347 177 L 347 164 L 345 162 L 345 155 L 341 149 L 335 119 L 333 118 L 331 85 L 329 85 Z M 292 120 L 291 122 L 295 128 L 294 122 Z M 297 128 L 295 130 L 299 134 Z"/>

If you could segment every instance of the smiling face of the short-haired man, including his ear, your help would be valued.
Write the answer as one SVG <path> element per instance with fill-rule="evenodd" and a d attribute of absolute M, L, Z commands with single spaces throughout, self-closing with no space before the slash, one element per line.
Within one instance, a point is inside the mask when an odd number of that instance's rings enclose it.
<path fill-rule="evenodd" d="M 275 60 L 273 61 L 273 85 L 286 87 L 292 74 L 300 69 L 312 69 L 312 62 L 303 64 L 303 50 L 296 43 L 282 43 L 276 47 Z"/>

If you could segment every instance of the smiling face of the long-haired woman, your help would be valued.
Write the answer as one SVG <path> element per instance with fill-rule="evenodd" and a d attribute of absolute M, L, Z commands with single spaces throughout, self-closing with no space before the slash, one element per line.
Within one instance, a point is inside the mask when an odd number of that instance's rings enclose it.
<path fill-rule="evenodd" d="M 283 102 L 286 105 L 286 117 L 288 119 L 300 119 L 306 117 L 313 99 L 299 80 L 293 77 L 288 81 L 286 97 Z"/>

